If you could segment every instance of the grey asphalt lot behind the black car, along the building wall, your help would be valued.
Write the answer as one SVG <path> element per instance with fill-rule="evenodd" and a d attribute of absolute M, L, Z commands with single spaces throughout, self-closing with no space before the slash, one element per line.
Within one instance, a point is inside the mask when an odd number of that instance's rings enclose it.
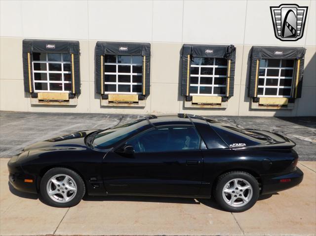
<path fill-rule="evenodd" d="M 144 115 L 0 112 L 0 157 L 9 158 L 26 145 L 57 135 L 105 129 Z M 296 142 L 301 161 L 316 160 L 316 117 L 208 116 L 237 128 L 261 129 Z"/>

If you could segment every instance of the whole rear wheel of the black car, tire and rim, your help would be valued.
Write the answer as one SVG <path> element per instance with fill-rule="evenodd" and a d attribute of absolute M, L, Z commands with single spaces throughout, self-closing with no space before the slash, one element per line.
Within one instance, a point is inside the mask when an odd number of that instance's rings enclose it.
<path fill-rule="evenodd" d="M 216 202 L 230 212 L 241 212 L 251 208 L 259 197 L 258 181 L 244 171 L 222 174 L 214 191 Z"/>

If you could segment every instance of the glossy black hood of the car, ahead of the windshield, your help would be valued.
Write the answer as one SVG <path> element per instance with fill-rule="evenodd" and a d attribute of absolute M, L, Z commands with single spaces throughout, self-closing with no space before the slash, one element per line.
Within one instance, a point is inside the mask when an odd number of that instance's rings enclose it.
<path fill-rule="evenodd" d="M 54 138 L 50 138 L 41 142 L 34 143 L 24 148 L 23 151 L 32 151 L 39 149 L 64 149 L 74 148 L 79 146 L 86 146 L 84 138 L 97 130 L 84 130 L 71 134 L 61 135 Z"/>

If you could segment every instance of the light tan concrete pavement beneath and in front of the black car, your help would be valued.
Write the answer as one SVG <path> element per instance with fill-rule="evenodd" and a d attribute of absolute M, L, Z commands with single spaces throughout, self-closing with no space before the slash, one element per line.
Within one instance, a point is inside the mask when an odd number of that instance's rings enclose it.
<path fill-rule="evenodd" d="M 250 210 L 230 213 L 211 200 L 89 197 L 54 208 L 37 195 L 9 189 L 0 159 L 0 235 L 316 235 L 316 162 L 300 162 L 303 182 L 261 198 Z"/>

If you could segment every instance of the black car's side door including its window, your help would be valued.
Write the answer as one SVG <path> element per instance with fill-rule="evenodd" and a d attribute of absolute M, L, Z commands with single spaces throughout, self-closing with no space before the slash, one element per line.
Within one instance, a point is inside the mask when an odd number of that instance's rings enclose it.
<path fill-rule="evenodd" d="M 129 139 L 133 154 L 109 152 L 103 163 L 109 194 L 198 195 L 201 138 L 194 126 L 153 128 Z"/>

